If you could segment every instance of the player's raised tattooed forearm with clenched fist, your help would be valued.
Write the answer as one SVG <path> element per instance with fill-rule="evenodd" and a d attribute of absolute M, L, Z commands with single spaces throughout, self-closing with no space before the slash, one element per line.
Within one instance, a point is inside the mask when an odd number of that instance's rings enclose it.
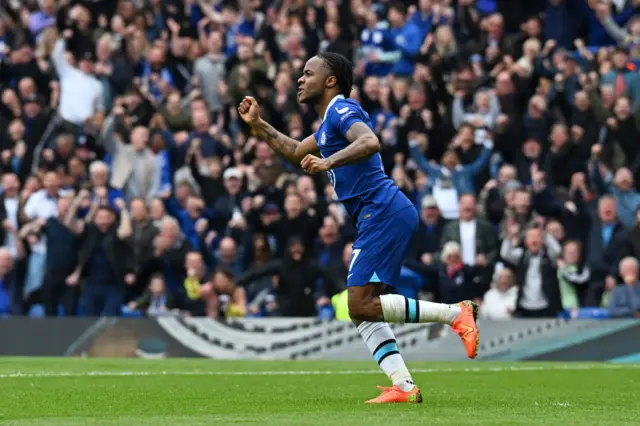
<path fill-rule="evenodd" d="M 313 135 L 305 138 L 302 142 L 298 142 L 283 135 L 274 129 L 271 124 L 264 121 L 260 117 L 260 107 L 254 98 L 246 96 L 240 102 L 238 112 L 244 122 L 251 127 L 255 136 L 264 140 L 271 149 L 295 165 L 299 165 L 305 156 L 318 152 L 318 143 Z"/>

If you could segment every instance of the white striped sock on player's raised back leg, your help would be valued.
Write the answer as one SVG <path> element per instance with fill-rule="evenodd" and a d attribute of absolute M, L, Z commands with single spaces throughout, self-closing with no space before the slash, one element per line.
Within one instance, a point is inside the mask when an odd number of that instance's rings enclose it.
<path fill-rule="evenodd" d="M 458 305 L 409 299 L 399 294 L 380 296 L 380 304 L 384 321 L 393 323 L 439 322 L 451 325 L 462 311 Z"/>

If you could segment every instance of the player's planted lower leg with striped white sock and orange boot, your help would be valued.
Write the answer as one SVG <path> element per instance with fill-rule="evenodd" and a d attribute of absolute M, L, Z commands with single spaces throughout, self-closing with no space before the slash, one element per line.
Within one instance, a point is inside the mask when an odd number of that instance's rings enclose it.
<path fill-rule="evenodd" d="M 379 297 L 386 289 L 379 284 L 367 284 L 357 287 L 368 298 Z M 383 388 L 385 392 L 379 397 L 367 401 L 368 403 L 389 402 L 422 402 L 420 390 L 413 382 L 407 365 L 400 355 L 396 336 L 389 324 L 385 322 L 370 322 L 353 320 L 364 343 L 371 351 L 382 371 L 393 383 L 393 388 Z M 395 388 L 398 389 L 395 389 Z"/>

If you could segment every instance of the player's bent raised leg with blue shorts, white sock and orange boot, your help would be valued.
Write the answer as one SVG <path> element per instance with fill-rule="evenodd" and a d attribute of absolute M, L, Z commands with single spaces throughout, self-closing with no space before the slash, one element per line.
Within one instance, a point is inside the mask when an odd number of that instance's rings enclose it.
<path fill-rule="evenodd" d="M 351 318 L 369 322 L 448 324 L 462 338 L 467 355 L 474 358 L 478 349 L 478 307 L 474 303 L 449 305 L 398 294 L 372 295 L 362 286 L 363 282 L 393 285 L 400 276 L 418 216 L 415 209 L 407 208 L 392 219 L 365 228 L 356 239 L 347 280 Z"/>

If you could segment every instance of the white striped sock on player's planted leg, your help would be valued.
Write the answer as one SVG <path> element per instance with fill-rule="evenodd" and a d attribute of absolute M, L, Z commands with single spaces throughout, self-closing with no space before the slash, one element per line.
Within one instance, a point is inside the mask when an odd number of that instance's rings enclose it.
<path fill-rule="evenodd" d="M 398 351 L 396 337 L 389 324 L 384 322 L 363 322 L 358 331 L 373 354 L 382 371 L 403 391 L 413 389 L 415 384 L 411 374 Z"/>

